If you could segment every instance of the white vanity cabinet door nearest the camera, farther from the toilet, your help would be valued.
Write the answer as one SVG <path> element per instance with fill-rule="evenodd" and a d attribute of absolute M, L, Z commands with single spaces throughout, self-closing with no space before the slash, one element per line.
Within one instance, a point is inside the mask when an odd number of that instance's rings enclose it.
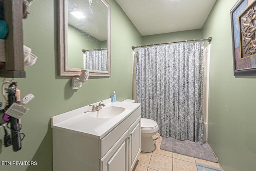
<path fill-rule="evenodd" d="M 101 159 L 102 171 L 128 171 L 128 141 L 127 130 L 108 153 Z"/>

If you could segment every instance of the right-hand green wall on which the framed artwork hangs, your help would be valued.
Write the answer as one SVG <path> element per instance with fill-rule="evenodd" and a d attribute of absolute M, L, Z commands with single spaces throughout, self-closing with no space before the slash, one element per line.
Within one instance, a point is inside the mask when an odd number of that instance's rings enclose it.
<path fill-rule="evenodd" d="M 203 28 L 212 36 L 208 143 L 225 171 L 256 169 L 256 77 L 234 77 L 230 10 L 217 0 Z"/>

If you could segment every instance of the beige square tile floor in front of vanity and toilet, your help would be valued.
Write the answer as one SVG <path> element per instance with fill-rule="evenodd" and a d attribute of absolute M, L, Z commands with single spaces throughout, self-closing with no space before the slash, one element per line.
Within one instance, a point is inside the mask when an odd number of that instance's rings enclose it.
<path fill-rule="evenodd" d="M 160 149 L 162 137 L 155 140 L 156 149 L 151 153 L 141 152 L 133 171 L 197 171 L 196 162 L 221 168 L 214 163 Z"/>

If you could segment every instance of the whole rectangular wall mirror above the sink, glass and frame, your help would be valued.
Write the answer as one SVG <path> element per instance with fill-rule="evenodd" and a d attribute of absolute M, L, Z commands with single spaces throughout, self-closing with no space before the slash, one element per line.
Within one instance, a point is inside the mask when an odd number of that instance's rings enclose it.
<path fill-rule="evenodd" d="M 59 2 L 59 75 L 76 76 L 87 69 L 89 76 L 110 76 L 109 4 L 105 0 Z"/>

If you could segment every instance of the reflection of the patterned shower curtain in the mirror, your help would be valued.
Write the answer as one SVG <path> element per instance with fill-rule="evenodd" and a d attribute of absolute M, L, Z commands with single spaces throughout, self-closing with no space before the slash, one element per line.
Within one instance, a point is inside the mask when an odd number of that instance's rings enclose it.
<path fill-rule="evenodd" d="M 108 50 L 86 51 L 84 54 L 84 69 L 108 70 Z"/>

